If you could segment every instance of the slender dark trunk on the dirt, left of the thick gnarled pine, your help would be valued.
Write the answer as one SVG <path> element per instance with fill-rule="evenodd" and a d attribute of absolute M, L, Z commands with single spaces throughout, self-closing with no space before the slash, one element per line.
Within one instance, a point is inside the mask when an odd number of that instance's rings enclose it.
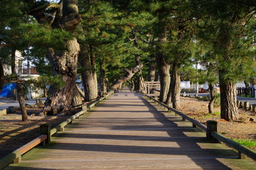
<path fill-rule="evenodd" d="M 23 89 L 21 81 L 17 81 L 17 93 L 18 93 L 18 103 L 21 108 L 21 115 L 22 115 L 22 121 L 27 122 L 28 121 L 28 113 L 26 111 L 25 106 L 25 98 L 24 98 L 24 92 L 25 89 Z"/>

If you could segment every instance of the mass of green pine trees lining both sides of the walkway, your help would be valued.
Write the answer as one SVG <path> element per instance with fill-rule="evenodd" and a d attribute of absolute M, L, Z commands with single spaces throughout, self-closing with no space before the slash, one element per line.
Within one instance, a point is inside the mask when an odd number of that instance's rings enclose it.
<path fill-rule="evenodd" d="M 66 113 L 71 103 L 81 103 L 75 93 L 77 69 L 85 87 L 85 101 L 97 98 L 99 89 L 106 92 L 106 85 L 117 89 L 133 75 L 133 82 L 147 75 L 152 81 L 157 72 L 159 100 L 172 102 L 178 109 L 182 71 L 192 70 L 188 67 L 203 61 L 209 63 L 205 80 L 212 100 L 215 73 L 219 75 L 221 117 L 238 119 L 235 82 L 251 76 L 255 64 L 254 1 L 3 3 L 0 89 L 1 65 L 11 64 L 11 51 L 33 56 L 42 74 L 60 76 L 65 82 L 50 87 L 45 113 Z M 45 72 L 46 67 L 51 67 L 50 72 Z"/>

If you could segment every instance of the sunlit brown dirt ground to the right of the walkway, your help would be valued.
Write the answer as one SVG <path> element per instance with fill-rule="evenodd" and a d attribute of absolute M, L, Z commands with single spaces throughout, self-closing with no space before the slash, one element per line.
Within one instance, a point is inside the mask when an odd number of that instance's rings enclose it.
<path fill-rule="evenodd" d="M 214 108 L 220 113 L 220 108 Z M 230 139 L 256 140 L 256 113 L 239 109 L 240 120 L 228 122 L 220 119 L 220 115 L 208 114 L 208 101 L 196 98 L 181 97 L 181 112 L 206 124 L 207 120 L 218 122 L 218 132 Z M 256 148 L 252 148 L 256 149 Z"/>

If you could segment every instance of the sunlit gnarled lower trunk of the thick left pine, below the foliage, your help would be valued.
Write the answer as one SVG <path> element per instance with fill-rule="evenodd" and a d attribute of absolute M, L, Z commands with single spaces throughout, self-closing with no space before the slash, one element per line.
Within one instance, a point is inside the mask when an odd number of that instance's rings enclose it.
<path fill-rule="evenodd" d="M 53 58 L 55 72 L 62 76 L 65 85 L 52 90 L 50 98 L 46 100 L 43 113 L 66 113 L 71 108 L 71 101 L 74 95 L 74 89 L 76 88 L 75 79 L 80 47 L 76 38 L 65 42 L 65 46 L 68 50 Z"/>

